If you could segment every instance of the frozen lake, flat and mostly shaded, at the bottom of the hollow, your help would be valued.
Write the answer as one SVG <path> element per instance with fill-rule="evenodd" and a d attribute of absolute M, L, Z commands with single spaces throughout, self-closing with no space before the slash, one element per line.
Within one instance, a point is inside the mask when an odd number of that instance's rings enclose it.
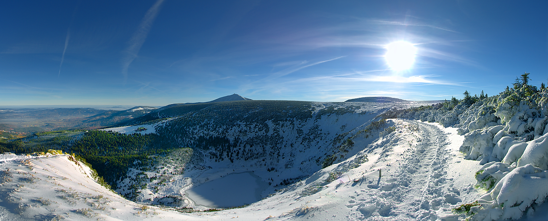
<path fill-rule="evenodd" d="M 186 190 L 185 193 L 198 205 L 228 208 L 261 200 L 261 191 L 265 185 L 253 172 L 248 171 L 231 173 Z"/>

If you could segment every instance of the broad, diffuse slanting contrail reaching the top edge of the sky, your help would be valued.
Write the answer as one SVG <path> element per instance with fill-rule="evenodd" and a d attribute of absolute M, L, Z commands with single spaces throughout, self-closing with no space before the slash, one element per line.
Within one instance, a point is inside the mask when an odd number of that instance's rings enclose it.
<path fill-rule="evenodd" d="M 137 57 L 139 50 L 141 50 L 142 44 L 145 43 L 146 36 L 149 34 L 152 23 L 154 22 L 154 19 L 156 19 L 156 15 L 158 15 L 162 2 L 164 2 L 164 0 L 156 1 L 156 3 L 154 3 L 148 11 L 146 11 L 145 17 L 142 18 L 141 24 L 139 24 L 137 31 L 135 31 L 132 38 L 129 39 L 129 46 L 125 49 L 124 57 L 122 59 L 122 75 L 124 76 L 124 85 L 128 80 L 128 67 Z"/>

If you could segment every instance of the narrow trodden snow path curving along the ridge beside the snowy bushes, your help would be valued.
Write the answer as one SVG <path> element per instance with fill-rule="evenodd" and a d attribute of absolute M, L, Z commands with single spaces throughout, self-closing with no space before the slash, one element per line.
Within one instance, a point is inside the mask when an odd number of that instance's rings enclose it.
<path fill-rule="evenodd" d="M 401 186 L 404 196 L 398 205 L 399 211 L 402 211 L 398 217 L 435 219 L 436 211 L 444 203 L 455 205 L 461 200 L 458 198 L 459 191 L 452 188 L 449 184 L 451 180 L 446 178 L 445 169 L 447 159 L 450 158 L 447 136 L 431 124 L 418 123 L 418 128 L 419 142 L 409 149 L 403 164 L 397 170 L 404 184 L 409 183 L 407 187 Z"/>

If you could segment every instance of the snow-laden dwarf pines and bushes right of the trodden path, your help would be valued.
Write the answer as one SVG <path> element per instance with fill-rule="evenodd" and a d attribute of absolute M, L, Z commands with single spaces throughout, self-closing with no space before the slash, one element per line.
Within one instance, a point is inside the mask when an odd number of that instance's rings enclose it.
<path fill-rule="evenodd" d="M 464 135 L 460 151 L 484 165 L 476 173 L 477 187 L 488 192 L 469 204 L 471 220 L 519 219 L 548 196 L 548 90 L 520 86 L 467 108 L 408 115 L 458 127 Z"/>

